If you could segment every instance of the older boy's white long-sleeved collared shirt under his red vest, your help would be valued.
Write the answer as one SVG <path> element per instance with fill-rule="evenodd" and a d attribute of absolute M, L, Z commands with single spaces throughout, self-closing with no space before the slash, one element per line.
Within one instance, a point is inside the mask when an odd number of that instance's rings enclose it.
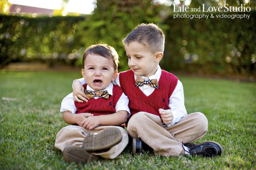
<path fill-rule="evenodd" d="M 149 79 L 157 79 L 157 81 L 159 81 L 160 77 L 161 77 L 161 73 L 162 73 L 162 69 L 160 68 L 160 66 L 158 65 L 157 67 L 157 72 L 155 72 L 154 75 L 149 76 Z M 145 78 L 144 76 L 139 76 L 141 78 Z M 134 79 L 136 79 L 136 75 L 134 75 Z M 86 80 L 84 80 L 83 78 L 78 79 L 81 84 L 85 84 Z M 74 80 L 75 82 L 76 80 Z M 73 84 L 74 84 L 73 82 Z M 113 84 L 117 84 L 118 86 L 120 86 L 120 81 L 119 81 L 119 73 L 117 78 L 114 80 Z M 150 94 L 153 93 L 153 91 L 155 90 L 154 87 L 151 87 L 149 84 L 143 84 L 143 86 L 139 87 L 140 90 L 146 95 L 149 96 Z M 184 105 L 184 92 L 183 92 L 183 86 L 182 83 L 180 82 L 180 80 L 178 80 L 177 85 L 171 95 L 171 97 L 169 98 L 169 109 L 172 110 L 173 113 L 173 122 L 169 125 L 172 126 L 175 123 L 177 123 L 178 121 L 180 121 L 180 119 L 184 116 L 187 116 L 187 110 L 185 108 Z"/>

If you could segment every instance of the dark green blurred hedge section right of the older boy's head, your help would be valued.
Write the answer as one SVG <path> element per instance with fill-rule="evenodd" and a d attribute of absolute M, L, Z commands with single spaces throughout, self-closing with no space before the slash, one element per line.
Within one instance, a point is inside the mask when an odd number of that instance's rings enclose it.
<path fill-rule="evenodd" d="M 164 22 L 169 25 L 164 67 L 253 75 L 256 73 L 256 12 L 246 14 L 251 15 L 249 19 L 174 20 L 169 16 Z"/>

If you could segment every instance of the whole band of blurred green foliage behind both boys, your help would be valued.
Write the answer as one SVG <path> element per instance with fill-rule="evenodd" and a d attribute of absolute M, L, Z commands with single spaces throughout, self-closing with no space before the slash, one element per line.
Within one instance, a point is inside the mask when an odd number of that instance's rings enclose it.
<path fill-rule="evenodd" d="M 191 7 L 213 2 L 193 1 Z M 154 0 L 98 0 L 94 13 L 84 16 L 0 15 L 0 67 L 19 61 L 78 66 L 87 46 L 106 43 L 117 50 L 118 70 L 124 71 L 129 68 L 122 38 L 140 23 L 155 23 L 166 35 L 163 69 L 255 76 L 256 12 L 255 3 L 249 5 L 249 19 L 173 19 L 172 7 Z"/>

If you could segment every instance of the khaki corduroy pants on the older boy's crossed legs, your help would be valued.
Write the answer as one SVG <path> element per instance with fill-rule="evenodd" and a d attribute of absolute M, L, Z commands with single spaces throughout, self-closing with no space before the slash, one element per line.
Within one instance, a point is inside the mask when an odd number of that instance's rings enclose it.
<path fill-rule="evenodd" d="M 162 125 L 161 118 L 147 112 L 134 114 L 127 125 L 133 138 L 140 138 L 153 148 L 155 155 L 178 156 L 183 143 L 202 138 L 207 132 L 208 121 L 202 113 L 191 113 L 173 126 Z"/>

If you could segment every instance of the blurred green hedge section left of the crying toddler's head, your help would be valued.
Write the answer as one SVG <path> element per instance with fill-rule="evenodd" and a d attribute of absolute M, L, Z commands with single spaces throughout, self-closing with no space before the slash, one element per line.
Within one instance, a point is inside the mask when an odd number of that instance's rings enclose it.
<path fill-rule="evenodd" d="M 59 59 L 69 62 L 68 58 L 80 57 L 71 54 L 72 50 L 76 54 L 74 49 L 83 51 L 83 45 L 75 33 L 83 29 L 79 22 L 84 19 L 74 16 L 0 16 L 1 66 L 21 59 L 39 58 L 54 64 Z"/>

